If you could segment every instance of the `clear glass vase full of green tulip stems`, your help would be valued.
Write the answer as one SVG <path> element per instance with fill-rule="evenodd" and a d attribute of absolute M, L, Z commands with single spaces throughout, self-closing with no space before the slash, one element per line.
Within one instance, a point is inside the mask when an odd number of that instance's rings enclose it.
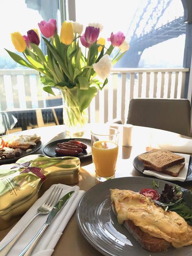
<path fill-rule="evenodd" d="M 85 125 L 88 123 L 88 109 L 79 110 L 76 97 L 77 87 L 61 89 L 63 99 L 63 123 L 66 125 L 68 137 L 75 138 L 83 136 Z"/>

